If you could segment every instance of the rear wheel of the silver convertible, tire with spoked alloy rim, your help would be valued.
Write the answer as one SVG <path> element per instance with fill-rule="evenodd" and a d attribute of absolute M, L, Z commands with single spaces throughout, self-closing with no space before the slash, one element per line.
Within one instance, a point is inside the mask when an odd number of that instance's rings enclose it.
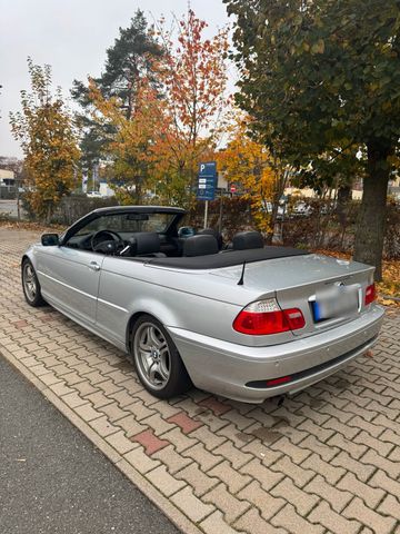
<path fill-rule="evenodd" d="M 151 315 L 136 322 L 131 353 L 140 382 L 154 397 L 171 398 L 192 387 L 171 336 Z"/>

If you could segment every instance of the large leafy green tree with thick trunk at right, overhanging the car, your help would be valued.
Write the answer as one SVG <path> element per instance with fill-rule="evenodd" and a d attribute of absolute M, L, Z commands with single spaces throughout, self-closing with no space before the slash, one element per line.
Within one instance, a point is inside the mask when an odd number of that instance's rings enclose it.
<path fill-rule="evenodd" d="M 399 0 L 224 0 L 236 16 L 238 102 L 299 169 L 363 175 L 354 257 L 381 279 L 386 201 L 399 150 Z M 343 167 L 340 167 L 343 161 Z M 333 172 L 331 174 L 333 175 Z"/>

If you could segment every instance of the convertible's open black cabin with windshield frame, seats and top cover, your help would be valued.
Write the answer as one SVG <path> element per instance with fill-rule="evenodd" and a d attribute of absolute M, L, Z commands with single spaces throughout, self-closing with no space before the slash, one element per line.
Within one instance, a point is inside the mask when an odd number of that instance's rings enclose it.
<path fill-rule="evenodd" d="M 180 208 L 153 206 L 103 208 L 77 221 L 61 236 L 60 244 L 128 259 L 148 258 L 154 265 L 188 269 L 308 254 L 296 248 L 264 247 L 262 235 L 254 230 L 238 233 L 226 247 L 222 236 L 213 228 L 180 238 L 178 226 L 184 215 Z M 157 231 L 150 231 L 154 225 Z M 137 231 L 140 229 L 147 231 Z"/>

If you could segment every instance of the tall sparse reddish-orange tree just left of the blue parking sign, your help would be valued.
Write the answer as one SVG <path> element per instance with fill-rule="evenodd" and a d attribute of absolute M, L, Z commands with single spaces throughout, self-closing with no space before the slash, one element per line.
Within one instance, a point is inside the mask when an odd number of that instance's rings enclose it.
<path fill-rule="evenodd" d="M 176 22 L 171 30 L 164 21 L 158 26 L 168 125 L 158 142 L 158 172 L 167 195 L 186 204 L 192 198 L 198 164 L 216 147 L 224 126 L 228 38 L 227 30 L 206 38 L 207 22 L 190 9 Z"/>

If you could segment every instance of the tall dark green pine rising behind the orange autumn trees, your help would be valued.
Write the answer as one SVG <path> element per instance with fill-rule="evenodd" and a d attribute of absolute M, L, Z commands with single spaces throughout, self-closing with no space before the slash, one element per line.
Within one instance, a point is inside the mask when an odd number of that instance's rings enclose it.
<path fill-rule="evenodd" d="M 142 11 L 138 10 L 128 28 L 119 29 L 119 37 L 107 50 L 104 71 L 92 78 L 103 98 L 117 98 L 127 119 L 134 113 L 140 79 L 147 77 L 157 85 L 152 65 L 162 50 L 148 27 Z M 72 98 L 81 106 L 82 112 L 76 120 L 82 131 L 80 148 L 82 166 L 91 168 L 107 152 L 106 147 L 116 134 L 112 125 L 97 121 L 89 83 L 74 80 Z"/>

